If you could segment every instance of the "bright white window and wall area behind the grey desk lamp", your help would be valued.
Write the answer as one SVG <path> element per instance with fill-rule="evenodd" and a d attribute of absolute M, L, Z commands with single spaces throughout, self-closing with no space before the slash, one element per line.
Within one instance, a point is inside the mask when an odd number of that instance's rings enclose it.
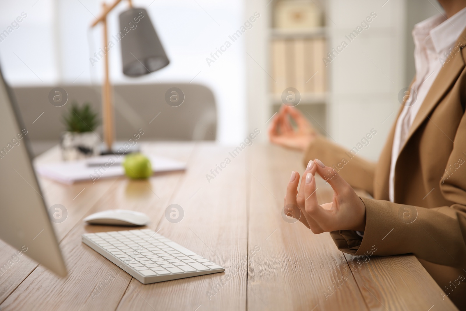
<path fill-rule="evenodd" d="M 102 29 L 97 26 L 89 30 L 89 25 L 100 13 L 101 2 L 35 1 L 2 4 L 0 31 L 21 12 L 27 13 L 20 28 L 0 42 L 0 61 L 7 81 L 12 85 L 99 84 L 103 62 L 93 67 L 89 57 L 102 46 Z M 133 5 L 148 10 L 171 63 L 153 74 L 128 78 L 122 73 L 117 44 L 109 54 L 112 83 L 204 84 L 213 91 L 218 104 L 217 138 L 222 143 L 240 141 L 246 135 L 244 38 L 233 42 L 210 66 L 206 57 L 244 23 L 243 2 L 133 0 Z M 118 14 L 125 8 L 127 3 L 122 1 L 109 15 L 109 40 L 118 33 Z"/>

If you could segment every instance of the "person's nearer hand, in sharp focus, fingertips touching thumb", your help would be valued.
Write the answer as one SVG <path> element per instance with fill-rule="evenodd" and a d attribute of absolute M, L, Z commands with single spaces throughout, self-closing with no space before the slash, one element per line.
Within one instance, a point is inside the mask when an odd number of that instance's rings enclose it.
<path fill-rule="evenodd" d="M 315 172 L 334 190 L 333 201 L 319 205 L 315 194 Z M 298 191 L 299 173 L 292 172 L 285 197 L 285 214 L 299 219 L 313 233 L 335 230 L 364 231 L 366 207 L 353 188 L 320 160 L 309 161 Z"/>

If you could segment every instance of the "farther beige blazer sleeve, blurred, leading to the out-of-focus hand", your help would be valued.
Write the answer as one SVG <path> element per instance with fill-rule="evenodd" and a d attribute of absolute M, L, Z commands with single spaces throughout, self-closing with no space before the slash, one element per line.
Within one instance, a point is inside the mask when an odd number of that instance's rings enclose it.
<path fill-rule="evenodd" d="M 308 145 L 304 152 L 304 166 L 313 159 L 334 167 L 351 187 L 363 189 L 373 195 L 375 163 L 348 152 L 322 136 L 317 136 Z"/>

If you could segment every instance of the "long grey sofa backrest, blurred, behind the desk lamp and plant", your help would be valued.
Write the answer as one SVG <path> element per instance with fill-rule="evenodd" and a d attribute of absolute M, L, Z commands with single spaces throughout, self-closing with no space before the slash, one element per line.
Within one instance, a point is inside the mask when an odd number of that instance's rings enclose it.
<path fill-rule="evenodd" d="M 61 87 L 68 102 L 56 107 L 49 102 L 49 93 Z M 183 104 L 173 107 L 165 101 L 173 87 L 182 90 Z M 91 85 L 59 85 L 47 87 L 15 87 L 14 96 L 21 111 L 29 139 L 56 141 L 65 126 L 62 115 L 70 104 L 90 104 L 102 116 L 101 87 Z M 217 111 L 212 91 L 199 84 L 158 83 L 122 84 L 113 86 L 115 133 L 117 141 L 125 141 L 138 129 L 144 130 L 143 140 L 214 140 Z M 170 96 L 171 94 L 169 94 Z M 40 116 L 40 117 L 39 117 Z M 157 117 L 156 117 L 157 116 Z M 154 118 L 155 117 L 155 118 Z M 102 127 L 97 133 L 102 137 Z"/>

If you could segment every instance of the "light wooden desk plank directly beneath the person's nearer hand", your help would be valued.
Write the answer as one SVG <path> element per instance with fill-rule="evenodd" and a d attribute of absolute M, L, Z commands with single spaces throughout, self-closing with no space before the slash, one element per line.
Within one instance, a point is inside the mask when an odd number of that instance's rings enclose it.
<path fill-rule="evenodd" d="M 301 157 L 276 146 L 254 147 L 248 153 L 248 249 L 260 247 L 249 259 L 248 310 L 367 310 L 329 234 L 314 235 L 300 221 L 288 223 L 281 215 L 289 176 L 303 171 Z M 321 203 L 328 199 L 326 187 L 319 179 Z"/>

